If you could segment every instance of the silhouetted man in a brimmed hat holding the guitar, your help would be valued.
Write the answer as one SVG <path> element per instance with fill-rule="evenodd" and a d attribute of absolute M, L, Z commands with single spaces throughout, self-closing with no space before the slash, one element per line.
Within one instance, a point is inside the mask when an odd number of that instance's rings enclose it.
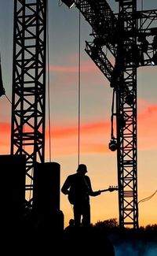
<path fill-rule="evenodd" d="M 69 202 L 74 205 L 74 221 L 75 227 L 81 225 L 88 227 L 90 224 L 90 204 L 89 195 L 100 195 L 100 191 L 93 191 L 87 173 L 86 165 L 79 165 L 77 172 L 67 177 L 61 191 L 64 195 L 68 195 Z"/>

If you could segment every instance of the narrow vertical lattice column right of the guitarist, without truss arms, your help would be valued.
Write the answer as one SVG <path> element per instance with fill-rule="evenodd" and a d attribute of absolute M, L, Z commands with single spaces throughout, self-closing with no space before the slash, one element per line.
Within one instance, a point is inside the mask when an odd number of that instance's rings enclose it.
<path fill-rule="evenodd" d="M 137 1 L 119 1 L 116 69 L 119 225 L 138 228 L 137 205 Z"/>

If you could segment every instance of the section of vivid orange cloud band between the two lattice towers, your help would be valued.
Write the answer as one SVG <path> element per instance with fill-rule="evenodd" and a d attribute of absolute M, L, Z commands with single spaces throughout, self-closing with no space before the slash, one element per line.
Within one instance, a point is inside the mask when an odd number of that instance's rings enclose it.
<path fill-rule="evenodd" d="M 67 126 L 53 128 L 53 130 L 51 131 L 53 154 L 78 154 L 78 140 L 80 140 L 81 154 L 107 152 L 108 145 L 107 143 L 105 143 L 105 140 L 108 140 L 109 132 L 109 121 L 102 121 L 82 125 L 80 127 L 80 138 L 79 128 L 76 125 L 74 125 L 73 127 Z M 49 132 L 46 131 L 46 144 L 48 143 Z"/>

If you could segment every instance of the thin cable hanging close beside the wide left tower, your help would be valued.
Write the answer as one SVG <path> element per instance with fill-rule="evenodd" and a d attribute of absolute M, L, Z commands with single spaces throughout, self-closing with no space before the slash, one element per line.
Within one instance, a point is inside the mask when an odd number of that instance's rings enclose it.
<path fill-rule="evenodd" d="M 51 161 L 51 115 L 50 115 L 50 78 L 49 78 L 49 1 L 47 0 L 47 83 L 48 83 L 48 119 L 49 119 L 49 161 Z"/>

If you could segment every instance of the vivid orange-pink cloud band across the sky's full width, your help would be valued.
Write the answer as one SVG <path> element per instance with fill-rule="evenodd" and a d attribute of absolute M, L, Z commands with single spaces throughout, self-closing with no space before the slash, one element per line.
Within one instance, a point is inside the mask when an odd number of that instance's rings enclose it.
<path fill-rule="evenodd" d="M 137 117 L 137 147 L 139 150 L 156 149 L 157 144 L 157 104 L 145 102 Z M 10 148 L 10 124 L 0 124 L 0 154 Z M 80 148 L 82 153 L 102 153 L 108 151 L 111 122 L 99 121 L 82 124 L 80 126 Z M 77 154 L 78 151 L 77 125 L 57 126 L 51 130 L 51 139 L 54 154 Z M 49 133 L 46 130 L 46 145 L 49 142 Z M 47 146 L 46 146 L 47 147 Z"/>

